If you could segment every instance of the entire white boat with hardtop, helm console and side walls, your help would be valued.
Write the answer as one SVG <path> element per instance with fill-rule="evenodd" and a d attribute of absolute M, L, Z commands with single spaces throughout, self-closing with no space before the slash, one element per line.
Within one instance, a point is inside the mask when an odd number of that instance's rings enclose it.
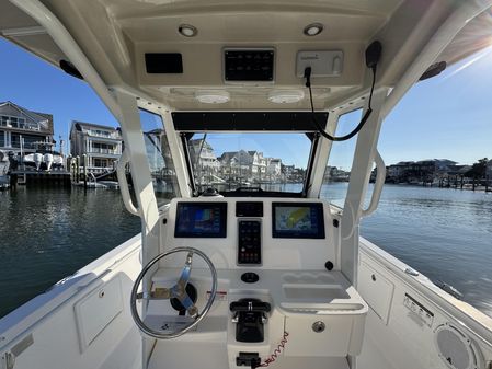
<path fill-rule="evenodd" d="M 142 224 L 0 320 L 2 368 L 491 368 L 492 319 L 359 237 L 385 117 L 491 45 L 491 7 L 2 1 L 0 34 L 119 122 L 119 189 Z M 335 205 L 327 163 L 347 140 Z"/>

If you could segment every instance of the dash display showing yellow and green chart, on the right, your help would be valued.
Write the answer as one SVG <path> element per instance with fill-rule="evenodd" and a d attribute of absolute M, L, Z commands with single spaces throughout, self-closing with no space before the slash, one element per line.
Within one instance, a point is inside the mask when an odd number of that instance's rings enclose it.
<path fill-rule="evenodd" d="M 281 239 L 324 239 L 321 203 L 272 203 L 272 237 Z"/>

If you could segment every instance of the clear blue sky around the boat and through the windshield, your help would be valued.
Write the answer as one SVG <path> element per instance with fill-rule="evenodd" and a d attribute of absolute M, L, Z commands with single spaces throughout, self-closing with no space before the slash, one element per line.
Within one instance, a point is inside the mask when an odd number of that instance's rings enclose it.
<path fill-rule="evenodd" d="M 386 164 L 424 159 L 450 159 L 471 164 L 492 158 L 491 48 L 419 82 L 384 122 L 379 151 Z M 0 38 L 0 102 L 54 115 L 55 139 L 68 139 L 72 120 L 117 126 L 91 88 L 36 56 Z M 339 135 L 351 130 L 358 116 L 339 124 Z M 216 154 L 263 151 L 286 164 L 306 166 L 309 141 L 302 136 L 238 135 L 209 137 Z M 335 142 L 329 165 L 350 170 L 355 138 Z"/>

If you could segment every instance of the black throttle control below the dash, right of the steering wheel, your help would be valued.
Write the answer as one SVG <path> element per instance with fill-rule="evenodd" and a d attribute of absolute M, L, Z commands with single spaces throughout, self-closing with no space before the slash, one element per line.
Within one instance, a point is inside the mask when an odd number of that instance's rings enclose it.
<path fill-rule="evenodd" d="M 264 341 L 263 324 L 270 303 L 258 299 L 241 299 L 230 303 L 230 311 L 234 313 L 232 321 L 236 324 L 236 341 L 258 343 Z"/>

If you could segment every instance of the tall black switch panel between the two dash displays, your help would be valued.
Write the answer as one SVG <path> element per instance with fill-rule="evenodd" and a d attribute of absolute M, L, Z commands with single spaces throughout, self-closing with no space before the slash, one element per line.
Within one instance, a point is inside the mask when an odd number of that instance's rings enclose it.
<path fill-rule="evenodd" d="M 258 219 L 238 220 L 238 265 L 262 264 L 262 222 Z"/>

